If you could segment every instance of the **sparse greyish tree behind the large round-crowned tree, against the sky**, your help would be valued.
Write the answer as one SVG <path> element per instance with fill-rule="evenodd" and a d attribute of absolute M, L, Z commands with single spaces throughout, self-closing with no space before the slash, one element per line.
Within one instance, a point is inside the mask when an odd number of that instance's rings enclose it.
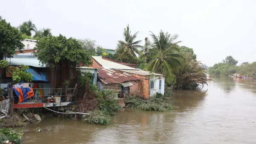
<path fill-rule="evenodd" d="M 92 56 L 96 55 L 97 45 L 95 40 L 91 40 L 87 38 L 87 39 L 79 40 L 79 43 L 82 45 L 82 48 L 89 53 L 89 55 L 92 55 Z"/>

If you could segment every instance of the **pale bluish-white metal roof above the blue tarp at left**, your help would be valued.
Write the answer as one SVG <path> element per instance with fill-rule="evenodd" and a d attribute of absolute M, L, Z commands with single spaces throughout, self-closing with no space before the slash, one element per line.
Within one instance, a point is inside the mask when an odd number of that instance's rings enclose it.
<path fill-rule="evenodd" d="M 46 67 L 46 65 L 40 64 L 40 61 L 33 55 L 32 52 L 13 55 L 13 58 L 6 58 L 6 61 L 9 65 L 12 66 L 20 66 L 21 64 L 26 66 L 34 66 L 34 67 Z"/>

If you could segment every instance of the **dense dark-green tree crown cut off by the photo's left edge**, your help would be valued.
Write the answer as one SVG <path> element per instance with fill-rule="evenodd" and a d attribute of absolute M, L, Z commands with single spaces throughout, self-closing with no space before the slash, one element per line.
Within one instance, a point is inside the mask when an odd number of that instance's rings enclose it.
<path fill-rule="evenodd" d="M 23 49 L 23 37 L 19 30 L 0 17 L 0 58 L 13 55 L 16 49 Z M 1 58 L 2 59 L 2 58 Z"/>

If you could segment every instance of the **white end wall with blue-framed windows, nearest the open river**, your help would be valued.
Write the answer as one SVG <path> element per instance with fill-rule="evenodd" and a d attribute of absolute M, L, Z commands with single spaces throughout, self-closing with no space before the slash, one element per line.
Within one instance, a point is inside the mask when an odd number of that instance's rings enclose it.
<path fill-rule="evenodd" d="M 149 96 L 158 93 L 164 94 L 164 75 L 154 75 L 149 78 Z"/>

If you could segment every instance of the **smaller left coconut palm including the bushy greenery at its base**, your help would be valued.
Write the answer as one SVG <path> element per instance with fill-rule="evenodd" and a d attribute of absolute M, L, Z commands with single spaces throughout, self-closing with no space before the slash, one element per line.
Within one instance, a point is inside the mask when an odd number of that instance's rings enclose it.
<path fill-rule="evenodd" d="M 143 48 L 140 46 L 141 40 L 135 41 L 138 32 L 135 32 L 134 35 L 131 35 L 131 30 L 129 25 L 124 29 L 123 35 L 125 41 L 119 40 L 117 43 L 116 54 L 118 55 L 117 60 L 125 62 L 125 63 L 134 63 L 137 64 L 137 55 L 140 55 L 139 48 Z M 132 60 L 131 60 L 132 59 Z"/>

